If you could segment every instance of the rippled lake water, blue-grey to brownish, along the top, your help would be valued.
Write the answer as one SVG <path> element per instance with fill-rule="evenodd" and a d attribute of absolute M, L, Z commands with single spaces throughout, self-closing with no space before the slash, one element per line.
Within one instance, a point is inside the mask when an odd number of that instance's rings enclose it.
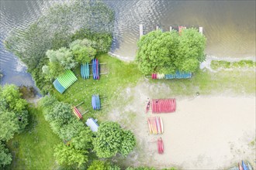
<path fill-rule="evenodd" d="M 43 10 L 60 1 L 0 1 L 1 35 L 0 68 L 5 76 L 2 84 L 35 86 L 32 77 L 2 40 L 13 28 L 26 28 Z M 207 38 L 206 54 L 220 58 L 255 57 L 255 1 L 110 1 L 116 12 L 111 53 L 133 60 L 139 39 L 139 24 L 144 32 L 156 26 L 164 31 L 169 26 L 202 26 Z"/>

